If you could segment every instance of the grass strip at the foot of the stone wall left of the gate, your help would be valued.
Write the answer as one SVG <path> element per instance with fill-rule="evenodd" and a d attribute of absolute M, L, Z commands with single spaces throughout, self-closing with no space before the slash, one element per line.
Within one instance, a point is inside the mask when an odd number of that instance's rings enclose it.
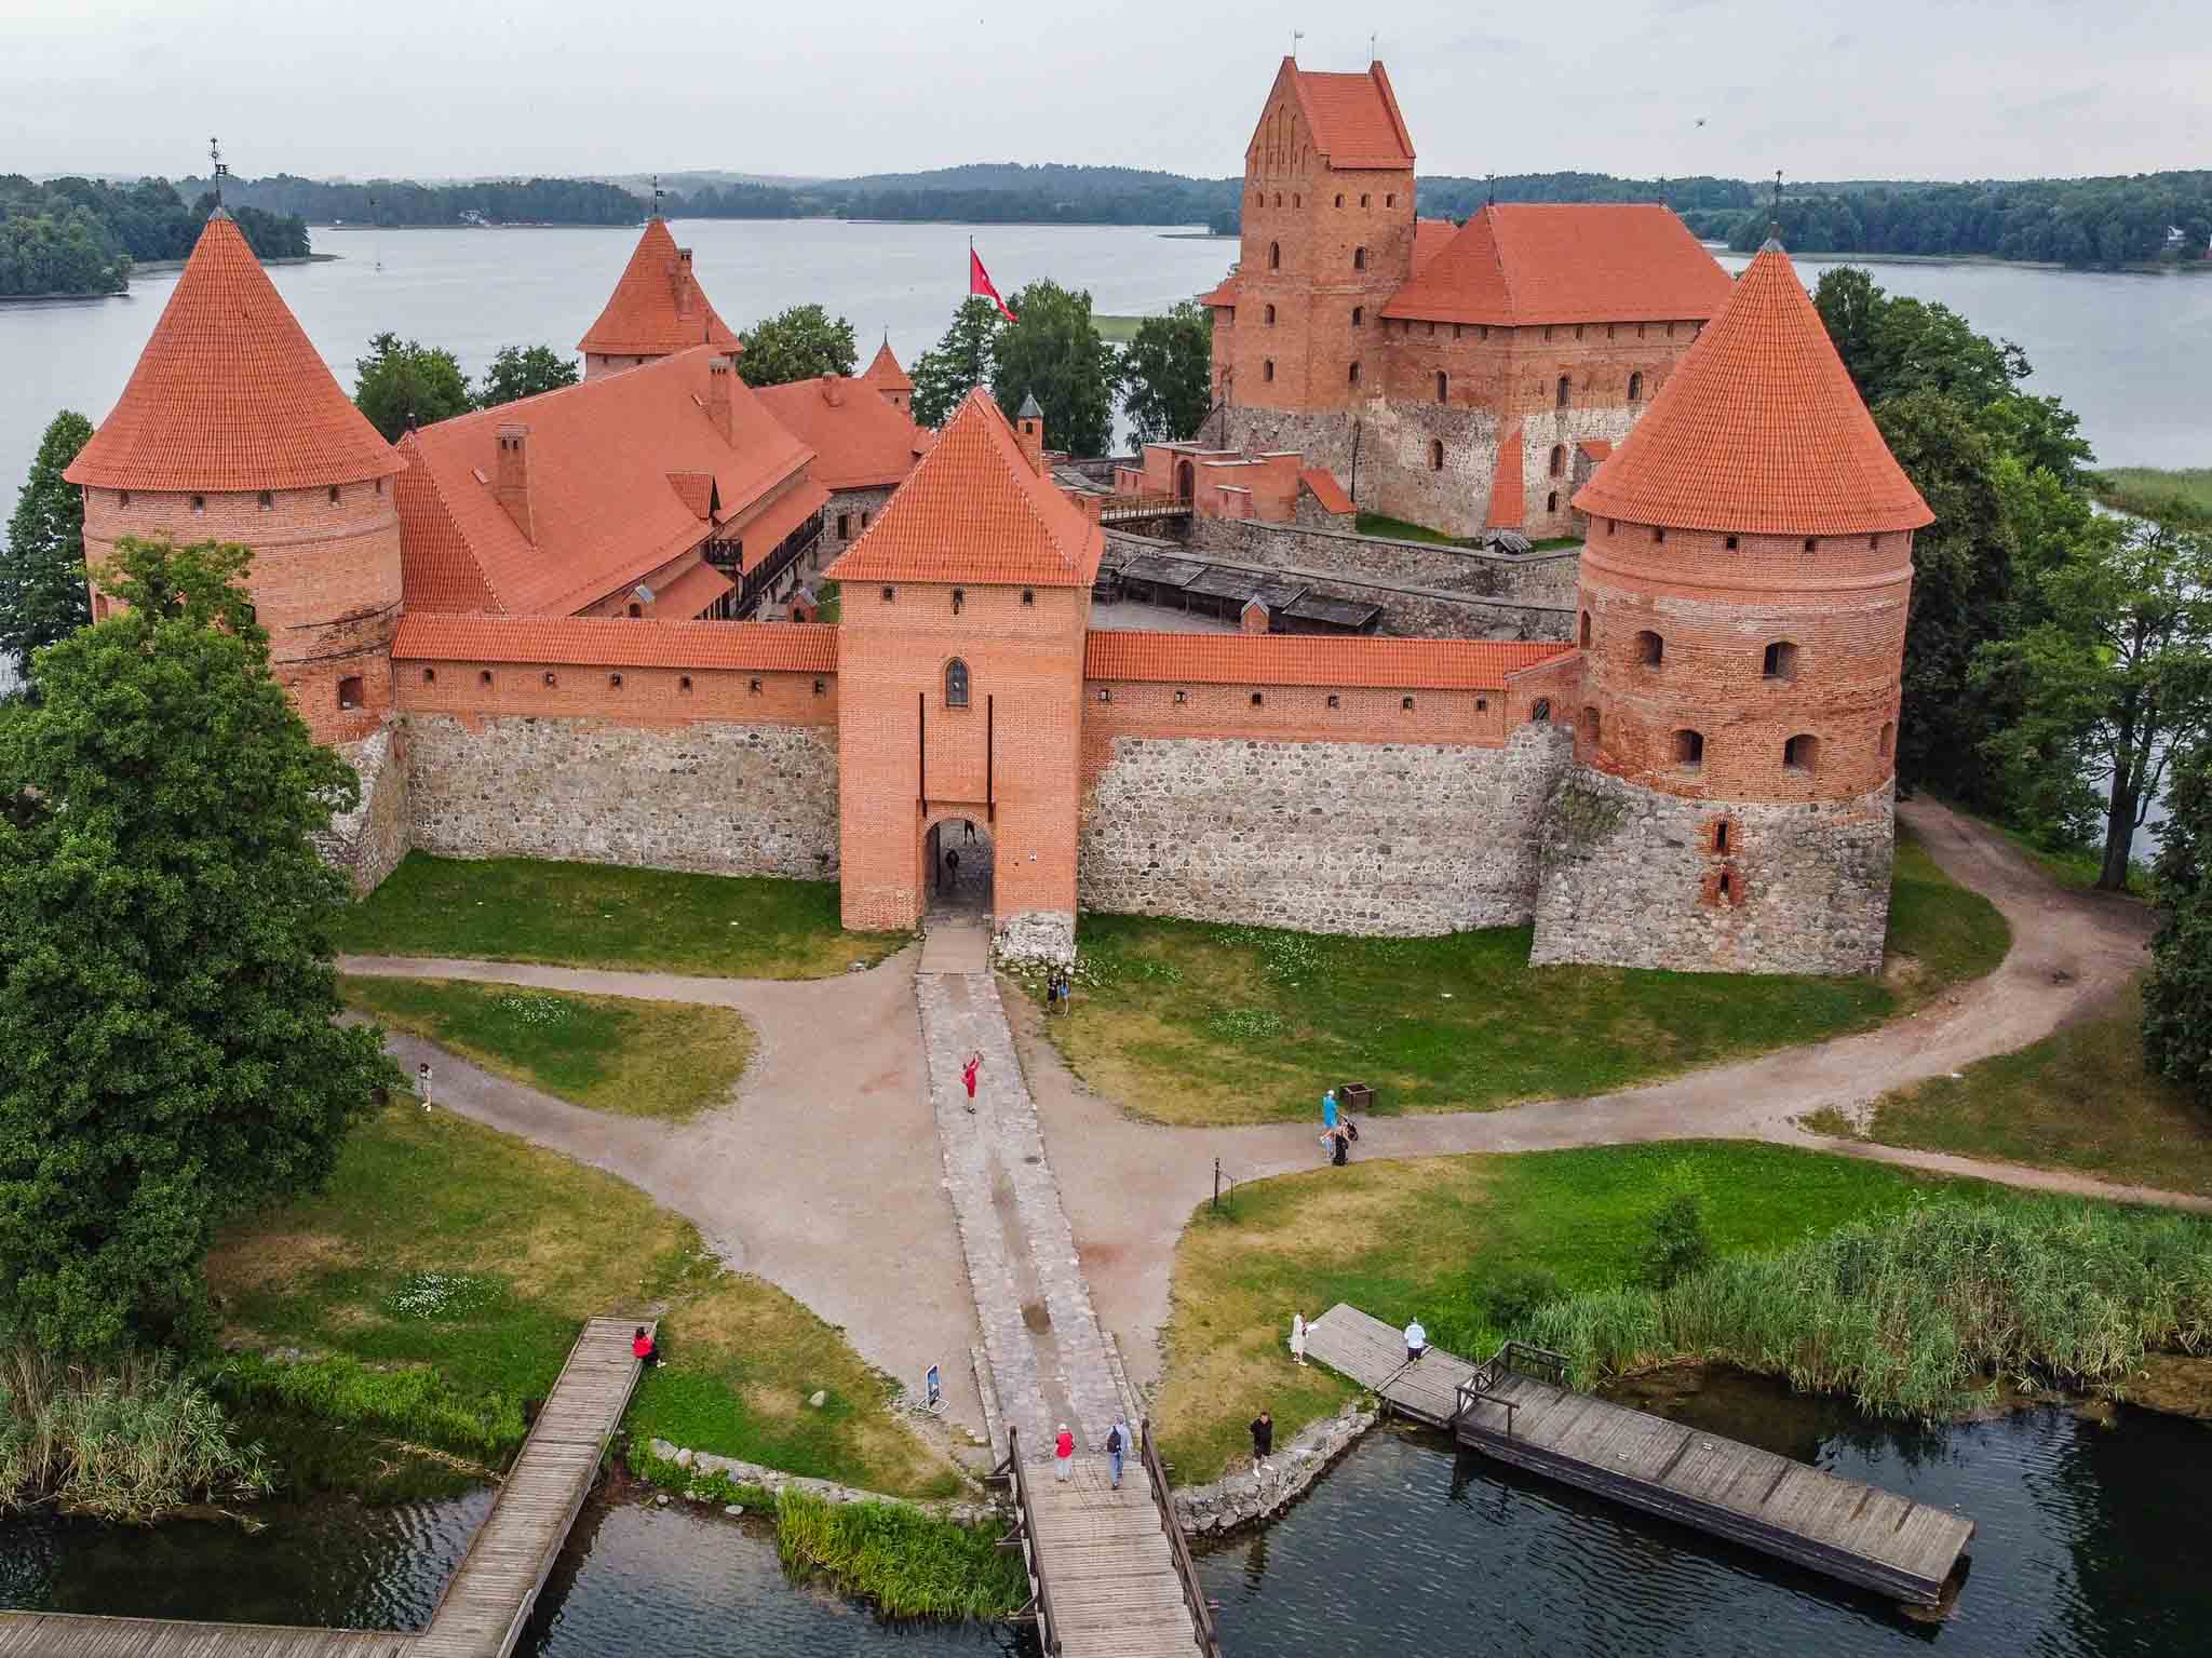
<path fill-rule="evenodd" d="M 834 880 L 686 875 L 538 858 L 407 853 L 332 922 L 352 955 L 821 979 L 880 962 L 905 933 L 845 933 Z"/>

